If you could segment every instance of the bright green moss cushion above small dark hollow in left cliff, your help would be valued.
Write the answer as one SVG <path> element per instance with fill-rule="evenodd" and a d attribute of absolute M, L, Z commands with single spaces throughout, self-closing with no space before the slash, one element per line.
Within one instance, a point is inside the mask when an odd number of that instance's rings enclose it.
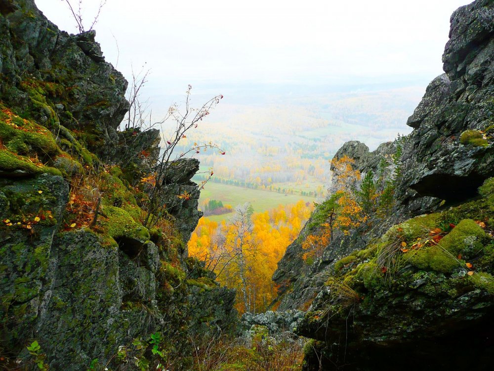
<path fill-rule="evenodd" d="M 114 206 L 103 206 L 100 226 L 104 234 L 112 237 L 130 237 L 142 241 L 149 240 L 149 231 L 142 225 L 136 223 L 132 217 L 123 209 Z"/>

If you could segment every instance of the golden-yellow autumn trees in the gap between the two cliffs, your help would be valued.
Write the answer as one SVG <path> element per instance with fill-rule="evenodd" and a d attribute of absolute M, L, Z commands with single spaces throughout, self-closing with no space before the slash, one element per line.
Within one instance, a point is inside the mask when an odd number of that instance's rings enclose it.
<path fill-rule="evenodd" d="M 236 218 L 220 226 L 202 218 L 190 238 L 189 254 L 205 260 L 219 282 L 238 290 L 240 313 L 263 312 L 277 296 L 271 280 L 277 264 L 311 211 L 312 205 L 303 201 L 279 205 L 251 214 L 250 226 Z"/>

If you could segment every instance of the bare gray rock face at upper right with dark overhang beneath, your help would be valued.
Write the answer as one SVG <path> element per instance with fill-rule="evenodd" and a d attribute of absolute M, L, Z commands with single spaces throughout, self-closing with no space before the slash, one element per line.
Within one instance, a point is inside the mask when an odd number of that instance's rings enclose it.
<path fill-rule="evenodd" d="M 407 122 L 414 131 L 405 138 L 397 189 L 405 209 L 424 196 L 465 200 L 494 173 L 493 140 L 486 132 L 494 124 L 492 10 L 493 1 L 474 1 L 452 15 L 443 55 L 446 74 L 429 84 Z M 466 130 L 486 132 L 488 142 L 460 140 Z"/>

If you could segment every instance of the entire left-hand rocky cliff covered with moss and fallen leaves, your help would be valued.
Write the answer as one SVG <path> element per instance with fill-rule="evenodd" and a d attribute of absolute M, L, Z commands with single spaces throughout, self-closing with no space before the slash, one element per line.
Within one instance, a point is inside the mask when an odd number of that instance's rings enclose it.
<path fill-rule="evenodd" d="M 236 319 L 235 293 L 187 257 L 197 161 L 168 164 L 173 207 L 145 227 L 160 136 L 119 131 L 127 82 L 95 32 L 60 31 L 33 0 L 0 13 L 0 368 L 186 369 L 189 340 Z"/>

